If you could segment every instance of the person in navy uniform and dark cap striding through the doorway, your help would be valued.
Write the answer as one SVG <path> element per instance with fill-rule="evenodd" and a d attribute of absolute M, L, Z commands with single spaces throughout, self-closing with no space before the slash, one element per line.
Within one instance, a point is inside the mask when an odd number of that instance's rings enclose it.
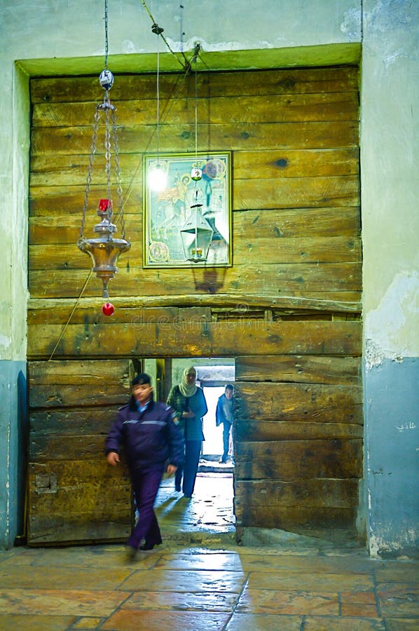
<path fill-rule="evenodd" d="M 153 400 L 150 376 L 137 374 L 131 385 L 130 402 L 118 410 L 105 453 L 111 466 L 119 463 L 121 445 L 127 456 L 139 512 L 128 539 L 133 559 L 137 550 L 152 550 L 162 543 L 154 502 L 165 470 L 173 475 L 184 459 L 184 438 L 172 408 Z"/>

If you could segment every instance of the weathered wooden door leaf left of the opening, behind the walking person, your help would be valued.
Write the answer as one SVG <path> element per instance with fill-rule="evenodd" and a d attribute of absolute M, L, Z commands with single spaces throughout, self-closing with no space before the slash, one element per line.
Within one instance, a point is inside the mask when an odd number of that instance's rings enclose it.
<path fill-rule="evenodd" d="M 123 541 L 132 525 L 128 471 L 104 439 L 128 401 L 131 360 L 34 361 L 29 372 L 29 545 Z"/>

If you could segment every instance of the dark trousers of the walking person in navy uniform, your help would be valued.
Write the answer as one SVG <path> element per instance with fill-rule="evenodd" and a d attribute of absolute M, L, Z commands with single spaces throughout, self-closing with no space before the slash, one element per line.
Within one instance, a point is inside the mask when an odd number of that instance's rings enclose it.
<path fill-rule="evenodd" d="M 137 525 L 128 539 L 128 545 L 132 548 L 138 548 L 144 540 L 146 545 L 158 545 L 162 542 L 156 513 L 154 513 L 154 502 L 164 470 L 164 464 L 159 464 L 131 471 L 132 489 L 139 513 Z"/>

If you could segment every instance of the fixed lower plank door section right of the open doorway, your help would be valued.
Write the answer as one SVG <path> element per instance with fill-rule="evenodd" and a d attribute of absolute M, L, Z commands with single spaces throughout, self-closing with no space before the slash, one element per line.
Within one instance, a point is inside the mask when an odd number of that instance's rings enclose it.
<path fill-rule="evenodd" d="M 235 515 L 309 536 L 353 531 L 362 478 L 361 360 L 246 356 L 235 362 Z"/>

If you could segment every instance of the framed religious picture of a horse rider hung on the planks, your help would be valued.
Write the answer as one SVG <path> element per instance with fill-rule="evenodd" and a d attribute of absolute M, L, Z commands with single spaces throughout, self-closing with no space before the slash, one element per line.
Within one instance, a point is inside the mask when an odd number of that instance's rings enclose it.
<path fill-rule="evenodd" d="M 144 155 L 144 267 L 231 266 L 231 152 Z"/>

